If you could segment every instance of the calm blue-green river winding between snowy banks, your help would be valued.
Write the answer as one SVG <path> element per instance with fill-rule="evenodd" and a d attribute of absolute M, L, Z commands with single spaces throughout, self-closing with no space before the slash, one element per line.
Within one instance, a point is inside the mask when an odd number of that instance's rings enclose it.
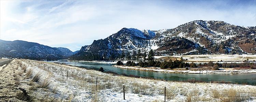
<path fill-rule="evenodd" d="M 69 61 L 54 61 L 65 63 L 72 66 L 85 67 L 87 69 L 99 70 L 100 67 L 104 68 L 104 72 L 115 72 L 119 75 L 133 75 L 140 77 L 150 77 L 154 79 L 163 79 L 170 81 L 225 81 L 231 83 L 247 83 L 250 85 L 256 85 L 256 74 L 177 74 L 177 73 L 160 73 L 160 72 L 146 72 L 140 70 L 130 70 L 123 68 L 112 67 L 112 64 L 102 64 L 95 62 L 69 62 Z"/>

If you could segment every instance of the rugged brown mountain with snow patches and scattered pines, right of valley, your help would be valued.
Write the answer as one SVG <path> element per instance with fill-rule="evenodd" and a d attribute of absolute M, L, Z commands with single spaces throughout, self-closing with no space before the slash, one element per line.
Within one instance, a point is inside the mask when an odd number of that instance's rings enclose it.
<path fill-rule="evenodd" d="M 108 60 L 113 55 L 132 54 L 139 49 L 153 49 L 156 55 L 254 54 L 255 37 L 256 26 L 241 27 L 224 21 L 196 20 L 161 30 L 122 28 L 108 38 L 83 46 L 71 59 Z"/>

